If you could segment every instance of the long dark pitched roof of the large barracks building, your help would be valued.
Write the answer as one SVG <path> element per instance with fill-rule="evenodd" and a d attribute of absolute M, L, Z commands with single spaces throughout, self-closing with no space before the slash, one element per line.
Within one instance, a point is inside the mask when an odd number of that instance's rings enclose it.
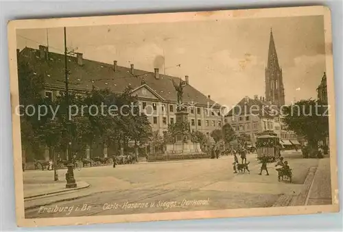
<path fill-rule="evenodd" d="M 37 75 L 45 77 L 45 84 L 64 88 L 64 55 L 49 52 L 49 59 L 40 58 L 40 51 L 25 47 L 20 53 L 19 58 L 26 60 Z M 96 88 L 109 88 L 113 92 L 123 92 L 126 87 L 139 88 L 144 83 L 149 86 L 156 94 L 160 95 L 165 101 L 176 102 L 177 93 L 171 79 L 176 83 L 180 82 L 179 77 L 159 74 L 156 79 L 154 73 L 144 70 L 134 69 L 134 75 L 130 73 L 130 68 L 117 66 L 117 71 L 113 70 L 113 64 L 106 64 L 94 60 L 82 59 L 83 65 L 78 65 L 78 58 L 68 56 L 69 88 L 80 90 L 91 90 Z M 194 102 L 199 105 L 215 104 L 215 101 L 187 85 L 184 88 L 183 99 L 185 103 Z"/>

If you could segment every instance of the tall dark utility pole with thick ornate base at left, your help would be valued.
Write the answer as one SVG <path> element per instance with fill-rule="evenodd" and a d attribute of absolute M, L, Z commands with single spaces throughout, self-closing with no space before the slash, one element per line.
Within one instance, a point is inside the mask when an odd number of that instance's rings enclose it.
<path fill-rule="evenodd" d="M 65 97 L 67 102 L 67 136 L 68 136 L 68 144 L 67 144 L 67 153 L 68 153 L 68 165 L 67 165 L 67 173 L 65 175 L 67 184 L 66 188 L 76 188 L 76 181 L 74 179 L 74 171 L 73 171 L 73 163 L 72 163 L 72 157 L 71 157 L 71 141 L 70 141 L 70 122 L 69 122 L 69 88 L 68 88 L 68 57 L 67 57 L 67 33 L 66 28 L 64 27 L 64 72 L 65 72 Z"/>

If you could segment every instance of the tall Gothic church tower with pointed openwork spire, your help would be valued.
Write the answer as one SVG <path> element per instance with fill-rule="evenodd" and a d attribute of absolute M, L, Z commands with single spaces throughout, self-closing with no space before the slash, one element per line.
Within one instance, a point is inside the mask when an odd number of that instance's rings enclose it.
<path fill-rule="evenodd" d="M 274 105 L 285 105 L 282 68 L 279 66 L 272 29 L 270 29 L 268 64 L 265 68 L 265 99 Z"/>

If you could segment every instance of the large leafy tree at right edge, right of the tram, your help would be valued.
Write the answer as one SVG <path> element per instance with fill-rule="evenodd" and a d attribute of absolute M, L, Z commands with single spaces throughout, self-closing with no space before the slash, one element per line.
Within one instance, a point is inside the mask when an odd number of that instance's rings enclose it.
<path fill-rule="evenodd" d="M 320 105 L 316 100 L 301 100 L 283 107 L 283 123 L 287 129 L 305 136 L 309 146 L 315 152 L 318 141 L 329 135 L 329 117 L 327 105 Z"/>

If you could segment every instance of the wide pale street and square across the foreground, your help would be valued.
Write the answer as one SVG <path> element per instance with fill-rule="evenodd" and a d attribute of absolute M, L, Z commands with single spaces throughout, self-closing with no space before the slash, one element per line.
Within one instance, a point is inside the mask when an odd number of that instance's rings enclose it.
<path fill-rule="evenodd" d="M 248 155 L 250 174 L 234 174 L 232 156 L 128 164 L 116 168 L 82 168 L 80 171 L 75 170 L 75 179 L 79 183 L 88 183 L 88 188 L 37 198 L 28 197 L 34 194 L 32 187 L 39 192 L 39 183 L 62 185 L 65 183 L 66 170 L 58 170 L 58 183 L 53 181 L 54 172 L 27 171 L 24 172 L 25 216 L 46 218 L 51 217 L 51 214 L 64 217 L 236 209 L 272 207 L 280 202 L 287 205 L 292 199 L 298 198 L 304 189 L 309 189 L 309 186 L 304 185 L 305 179 L 310 168 L 318 167 L 320 160 L 302 159 L 300 154 L 284 157 L 292 168 L 293 183 L 277 181 L 274 164 L 268 165 L 269 176 L 257 175 L 260 164 L 253 154 Z M 330 177 L 328 165 L 321 166 L 319 175 L 322 173 L 327 173 L 324 178 Z M 316 191 L 317 188 L 318 184 L 315 183 L 311 189 Z M 313 201 L 310 198 L 307 202 Z M 329 199 L 325 203 L 329 203 Z"/>

